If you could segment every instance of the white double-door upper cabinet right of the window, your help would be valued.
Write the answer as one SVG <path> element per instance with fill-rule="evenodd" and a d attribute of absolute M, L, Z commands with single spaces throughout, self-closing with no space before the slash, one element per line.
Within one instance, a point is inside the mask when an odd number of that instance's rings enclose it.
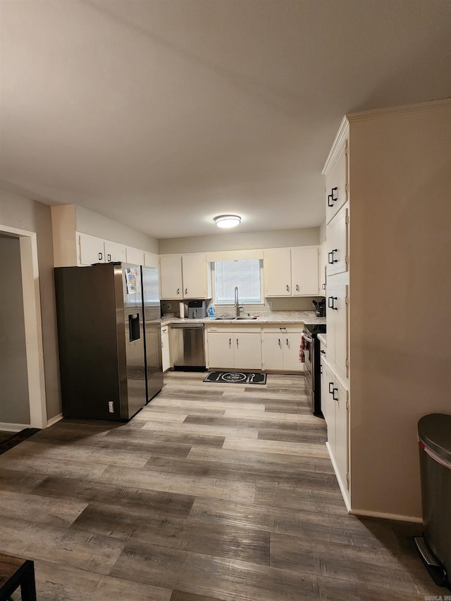
<path fill-rule="evenodd" d="M 319 294 L 319 247 L 266 249 L 263 265 L 266 297 Z"/>

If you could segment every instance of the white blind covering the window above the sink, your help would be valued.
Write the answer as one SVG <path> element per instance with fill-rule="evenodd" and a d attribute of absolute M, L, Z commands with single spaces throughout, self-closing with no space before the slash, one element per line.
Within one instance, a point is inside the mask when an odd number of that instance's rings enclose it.
<path fill-rule="evenodd" d="M 261 302 L 259 259 L 215 261 L 214 265 L 216 303 L 233 304 L 235 286 L 238 287 L 240 304 Z"/>

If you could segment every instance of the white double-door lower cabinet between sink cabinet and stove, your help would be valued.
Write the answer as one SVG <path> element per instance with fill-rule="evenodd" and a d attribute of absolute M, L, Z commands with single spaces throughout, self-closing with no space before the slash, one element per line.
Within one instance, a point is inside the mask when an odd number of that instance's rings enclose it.
<path fill-rule="evenodd" d="M 301 333 L 300 326 L 264 328 L 261 337 L 263 369 L 304 371 L 304 364 L 299 363 Z"/>

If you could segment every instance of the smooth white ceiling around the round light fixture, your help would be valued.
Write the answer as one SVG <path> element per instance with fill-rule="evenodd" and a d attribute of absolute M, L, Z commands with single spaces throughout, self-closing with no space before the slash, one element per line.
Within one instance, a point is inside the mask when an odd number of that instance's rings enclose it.
<path fill-rule="evenodd" d="M 316 227 L 345 113 L 450 96 L 449 0 L 1 0 L 2 185 L 157 238 Z"/>

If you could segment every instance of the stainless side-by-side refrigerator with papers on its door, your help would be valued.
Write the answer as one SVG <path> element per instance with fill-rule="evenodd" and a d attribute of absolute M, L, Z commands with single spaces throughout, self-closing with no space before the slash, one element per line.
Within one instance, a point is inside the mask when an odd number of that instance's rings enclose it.
<path fill-rule="evenodd" d="M 63 416 L 128 420 L 163 386 L 158 270 L 55 268 Z"/>

